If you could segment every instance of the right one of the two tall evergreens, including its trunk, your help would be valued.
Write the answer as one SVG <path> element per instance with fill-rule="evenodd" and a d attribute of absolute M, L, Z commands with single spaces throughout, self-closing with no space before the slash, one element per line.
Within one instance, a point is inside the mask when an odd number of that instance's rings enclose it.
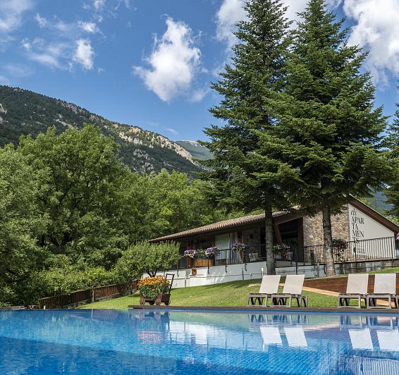
<path fill-rule="evenodd" d="M 351 196 L 380 188 L 386 159 L 380 152 L 386 128 L 374 108 L 375 88 L 360 68 L 367 54 L 347 44 L 343 21 L 310 0 L 300 13 L 287 60 L 287 90 L 274 102 L 281 155 L 303 180 L 295 193 L 310 213 L 322 212 L 326 273 L 335 274 L 331 214 Z"/>

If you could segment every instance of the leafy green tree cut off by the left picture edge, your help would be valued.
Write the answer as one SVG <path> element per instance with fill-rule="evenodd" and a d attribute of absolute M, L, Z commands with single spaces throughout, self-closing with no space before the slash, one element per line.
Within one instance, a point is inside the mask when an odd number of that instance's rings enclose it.
<path fill-rule="evenodd" d="M 35 235 L 46 216 L 37 212 L 36 176 L 26 159 L 8 146 L 0 149 L 0 304 L 13 304 L 30 269 L 43 259 Z"/>

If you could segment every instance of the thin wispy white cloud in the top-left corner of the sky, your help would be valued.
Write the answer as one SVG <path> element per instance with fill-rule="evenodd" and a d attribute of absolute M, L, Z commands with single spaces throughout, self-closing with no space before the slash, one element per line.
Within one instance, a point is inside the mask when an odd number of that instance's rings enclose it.
<path fill-rule="evenodd" d="M 20 27 L 23 21 L 23 13 L 32 8 L 31 0 L 0 1 L 0 39 L 2 41 L 8 40 L 11 32 Z"/>

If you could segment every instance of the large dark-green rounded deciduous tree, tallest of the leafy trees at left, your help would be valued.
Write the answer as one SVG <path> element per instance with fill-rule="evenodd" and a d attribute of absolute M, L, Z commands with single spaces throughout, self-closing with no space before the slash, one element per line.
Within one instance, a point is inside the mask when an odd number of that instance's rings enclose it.
<path fill-rule="evenodd" d="M 57 254 L 70 254 L 93 266 L 110 268 L 128 245 L 130 228 L 120 223 L 125 202 L 116 143 L 87 125 L 56 135 L 23 137 L 18 153 L 37 173 L 37 206 L 49 218 L 39 244 Z"/>

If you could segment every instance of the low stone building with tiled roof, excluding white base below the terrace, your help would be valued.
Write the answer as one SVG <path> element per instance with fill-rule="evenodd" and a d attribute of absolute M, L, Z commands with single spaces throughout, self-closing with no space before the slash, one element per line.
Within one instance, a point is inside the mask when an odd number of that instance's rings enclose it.
<path fill-rule="evenodd" d="M 365 240 L 376 238 L 393 238 L 399 233 L 399 227 L 386 219 L 374 209 L 363 204 L 358 199 L 353 199 L 350 204 L 343 207 L 340 214 L 332 218 L 333 238 L 343 242 L 357 244 L 357 252 L 360 254 Z M 180 249 L 206 249 L 217 246 L 221 250 L 211 266 L 232 264 L 240 262 L 257 262 L 266 259 L 264 249 L 265 230 L 264 214 L 244 216 L 237 219 L 219 221 L 200 228 L 173 233 L 161 238 L 155 238 L 152 242 L 175 240 L 180 242 Z M 232 254 L 231 247 L 235 243 L 244 243 L 246 247 L 246 259 L 243 254 Z M 293 260 L 300 263 L 317 262 L 317 257 L 322 251 L 323 226 L 321 213 L 308 216 L 301 211 L 274 213 L 274 243 L 285 245 L 283 254 L 276 254 L 276 260 Z M 391 250 L 389 250 L 391 251 Z M 286 254 L 288 252 L 288 254 Z M 356 250 L 355 250 L 356 252 Z M 318 255 L 319 254 L 319 255 Z M 208 259 L 196 259 L 195 264 L 185 263 L 182 259 L 180 268 L 188 268 L 192 265 L 208 265 Z"/>

